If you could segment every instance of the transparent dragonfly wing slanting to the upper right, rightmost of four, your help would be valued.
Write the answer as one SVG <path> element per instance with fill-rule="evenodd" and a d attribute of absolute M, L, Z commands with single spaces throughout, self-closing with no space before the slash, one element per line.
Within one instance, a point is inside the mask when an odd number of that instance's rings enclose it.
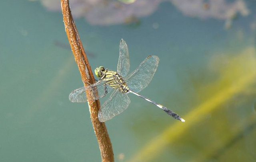
<path fill-rule="evenodd" d="M 158 62 L 157 56 L 148 56 L 132 74 L 124 78 L 128 87 L 138 93 L 148 86 L 156 72 Z"/>

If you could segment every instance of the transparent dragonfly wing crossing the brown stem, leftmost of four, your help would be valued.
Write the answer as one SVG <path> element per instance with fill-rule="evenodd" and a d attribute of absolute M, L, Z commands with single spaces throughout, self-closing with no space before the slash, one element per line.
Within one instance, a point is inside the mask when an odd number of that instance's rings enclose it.
<path fill-rule="evenodd" d="M 82 88 L 73 90 L 69 94 L 69 100 L 72 102 L 86 102 L 87 101 L 86 92 L 85 92 L 86 90 L 90 90 L 93 99 L 98 100 L 99 98 L 103 98 L 104 96 L 106 96 L 106 94 L 111 92 L 113 88 L 108 86 L 108 84 L 106 84 L 105 79 L 102 79 L 96 82 L 95 84 L 92 84 L 91 86 L 82 87 Z M 96 93 L 96 90 L 98 90 L 98 95 Z"/>

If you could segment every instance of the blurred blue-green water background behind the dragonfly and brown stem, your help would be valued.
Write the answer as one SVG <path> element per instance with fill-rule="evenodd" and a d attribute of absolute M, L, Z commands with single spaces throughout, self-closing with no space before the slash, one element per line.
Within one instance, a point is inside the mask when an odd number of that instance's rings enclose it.
<path fill-rule="evenodd" d="M 116 162 L 256 161 L 255 0 L 70 0 L 92 69 L 160 58 L 106 122 Z M 100 162 L 60 0 L 0 1 L 0 162 Z M 106 97 L 108 98 L 108 97 Z M 101 103 L 106 99 L 102 99 Z"/>

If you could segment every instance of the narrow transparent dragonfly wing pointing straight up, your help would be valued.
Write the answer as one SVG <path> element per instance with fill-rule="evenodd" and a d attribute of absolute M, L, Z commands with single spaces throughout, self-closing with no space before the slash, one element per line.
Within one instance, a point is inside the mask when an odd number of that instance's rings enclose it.
<path fill-rule="evenodd" d="M 130 71 L 130 60 L 129 60 L 129 52 L 126 42 L 121 39 L 120 41 L 120 49 L 119 49 L 119 60 L 117 64 L 117 72 L 121 76 L 126 76 Z"/>

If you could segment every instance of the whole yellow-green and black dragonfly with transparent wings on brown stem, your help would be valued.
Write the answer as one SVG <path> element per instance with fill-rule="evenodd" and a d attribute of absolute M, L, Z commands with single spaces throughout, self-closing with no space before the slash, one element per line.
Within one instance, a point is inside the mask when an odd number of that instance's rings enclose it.
<path fill-rule="evenodd" d="M 150 55 L 140 63 L 136 70 L 127 75 L 130 71 L 129 52 L 126 42 L 121 39 L 117 71 L 105 69 L 104 66 L 97 67 L 94 72 L 99 80 L 89 86 L 73 90 L 69 95 L 69 100 L 72 102 L 86 102 L 86 90 L 92 92 L 94 101 L 103 98 L 106 94 L 110 94 L 113 91 L 98 111 L 99 121 L 105 122 L 122 113 L 128 107 L 130 98 L 127 94 L 131 93 L 153 103 L 174 119 L 185 122 L 174 111 L 138 94 L 152 80 L 158 67 L 158 62 L 159 58 L 157 56 Z"/>

